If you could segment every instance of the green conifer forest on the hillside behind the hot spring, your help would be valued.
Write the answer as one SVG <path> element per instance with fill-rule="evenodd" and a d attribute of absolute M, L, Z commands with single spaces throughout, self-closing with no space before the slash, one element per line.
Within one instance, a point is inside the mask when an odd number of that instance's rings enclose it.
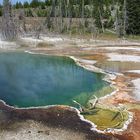
<path fill-rule="evenodd" d="M 140 34 L 139 6 L 140 0 L 32 0 L 30 3 L 27 0 L 14 5 L 16 9 L 25 8 L 27 17 L 47 17 L 49 28 L 52 26 L 50 18 L 59 17 L 61 28 L 65 29 L 70 29 L 72 19 L 77 19 L 78 28 L 94 28 L 99 32 L 109 29 L 119 37 L 126 33 Z M 69 19 L 69 27 L 63 25 L 64 18 Z"/>

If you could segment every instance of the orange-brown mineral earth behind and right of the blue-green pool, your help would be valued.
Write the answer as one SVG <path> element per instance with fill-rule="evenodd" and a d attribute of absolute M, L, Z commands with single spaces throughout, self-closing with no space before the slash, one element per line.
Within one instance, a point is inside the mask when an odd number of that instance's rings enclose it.
<path fill-rule="evenodd" d="M 140 49 L 140 44 L 135 46 L 132 44 L 129 45 L 120 45 L 119 43 L 115 42 L 113 45 L 109 45 L 109 47 L 120 47 L 120 49 L 110 50 L 106 49 L 106 46 L 104 46 L 102 43 L 98 44 L 96 46 L 96 43 L 90 43 L 87 45 L 87 42 L 82 44 L 82 47 L 78 45 L 78 43 L 75 46 L 70 47 L 63 47 L 63 45 L 59 45 L 59 49 L 57 47 L 53 48 L 36 48 L 31 51 L 33 52 L 39 52 L 39 53 L 47 53 L 47 54 L 54 54 L 54 55 L 71 55 L 75 56 L 78 59 L 85 59 L 85 60 L 96 60 L 97 64 L 100 63 L 100 66 L 102 68 L 102 64 L 106 64 L 108 62 L 108 53 L 118 53 L 118 54 L 126 54 L 126 55 L 134 55 L 134 56 L 140 56 L 140 51 L 137 49 Z M 111 43 L 110 43 L 111 44 Z M 57 46 L 57 45 L 56 45 Z M 61 46 L 61 47 L 60 47 Z M 80 47 L 77 47 L 80 46 Z M 101 46 L 101 47 L 100 47 Z M 124 48 L 124 49 L 123 49 Z M 134 48 L 133 50 L 129 48 Z M 113 62 L 112 62 L 113 63 Z M 121 63 L 121 65 L 120 65 Z M 127 63 L 127 65 L 126 65 Z M 86 65 L 86 64 L 85 64 Z M 96 65 L 96 64 L 95 64 Z M 117 87 L 118 91 L 116 94 L 105 98 L 104 100 L 101 100 L 102 103 L 108 104 L 108 105 L 115 105 L 123 104 L 126 108 L 126 104 L 137 104 L 137 109 L 135 109 L 135 106 L 132 107 L 129 111 L 134 114 L 134 120 L 129 125 L 128 129 L 125 132 L 122 132 L 119 135 L 116 135 L 121 140 L 140 140 L 140 104 L 139 101 L 137 101 L 134 98 L 133 90 L 134 85 L 132 84 L 132 80 L 140 78 L 140 74 L 138 73 L 132 73 L 128 72 L 129 70 L 140 70 L 140 62 L 115 62 L 115 72 L 120 73 L 122 75 L 118 75 L 116 79 L 112 80 L 113 84 Z M 124 67 L 124 66 L 125 67 Z M 97 65 L 98 66 L 98 65 Z M 110 66 L 110 67 L 109 67 Z M 108 68 L 106 68 L 106 71 L 109 71 L 110 68 L 112 68 L 112 65 L 107 65 Z M 113 69 L 111 69 L 113 70 Z M 114 72 L 114 71 L 113 71 Z"/>

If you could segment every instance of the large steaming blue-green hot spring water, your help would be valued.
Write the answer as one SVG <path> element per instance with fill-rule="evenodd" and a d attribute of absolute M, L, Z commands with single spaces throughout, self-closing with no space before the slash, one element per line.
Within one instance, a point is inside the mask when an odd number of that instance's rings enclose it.
<path fill-rule="evenodd" d="M 0 99 L 12 106 L 85 105 L 102 78 L 66 57 L 0 53 Z"/>

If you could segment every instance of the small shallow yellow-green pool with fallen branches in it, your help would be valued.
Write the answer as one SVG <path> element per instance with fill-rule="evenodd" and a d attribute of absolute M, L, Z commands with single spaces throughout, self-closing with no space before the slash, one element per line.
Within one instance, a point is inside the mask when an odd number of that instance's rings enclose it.
<path fill-rule="evenodd" d="M 103 108 L 95 108 L 94 113 L 84 114 L 84 118 L 97 125 L 100 130 L 108 128 L 120 129 L 123 127 L 125 121 L 128 120 L 128 113 L 126 111 L 117 111 Z"/>

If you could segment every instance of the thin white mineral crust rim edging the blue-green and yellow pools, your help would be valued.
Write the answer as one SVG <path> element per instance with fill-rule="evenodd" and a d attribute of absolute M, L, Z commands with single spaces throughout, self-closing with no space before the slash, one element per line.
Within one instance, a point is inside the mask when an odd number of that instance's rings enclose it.
<path fill-rule="evenodd" d="M 15 51 L 16 52 L 16 51 Z M 51 55 L 51 54 L 43 54 L 43 53 L 34 53 L 34 52 L 31 52 L 31 51 L 24 51 L 25 53 L 30 53 L 30 54 L 40 54 L 40 55 Z M 58 56 L 58 55 L 51 55 L 51 56 Z M 60 56 L 60 55 L 59 55 Z M 74 56 L 69 56 L 69 55 L 61 55 L 61 56 L 64 56 L 64 57 L 68 57 L 68 58 L 70 58 L 70 59 L 72 59 L 74 62 L 75 62 L 75 64 L 76 65 L 78 65 L 78 66 L 80 66 L 80 67 L 82 67 L 82 68 L 84 68 L 84 69 L 86 69 L 86 70 L 88 70 L 88 71 L 91 71 L 91 72 L 95 72 L 95 73 L 102 73 L 102 74 L 105 74 L 105 78 L 103 78 L 102 80 L 104 80 L 104 81 L 106 81 L 106 82 L 108 82 L 108 83 L 110 83 L 110 85 L 109 86 L 111 86 L 112 85 L 112 82 L 111 82 L 111 80 L 110 79 L 115 79 L 116 78 L 116 74 L 114 75 L 113 73 L 111 74 L 111 73 L 107 73 L 107 72 L 105 72 L 105 71 L 103 71 L 102 69 L 99 69 L 99 68 L 97 68 L 97 67 L 95 67 L 95 66 L 93 66 L 93 65 L 91 65 L 91 64 L 87 64 L 86 63 L 86 61 L 82 61 L 81 59 L 78 59 L 78 58 L 75 58 Z M 116 92 L 117 92 L 117 88 L 116 88 L 116 90 L 115 91 L 113 91 L 112 93 L 109 93 L 109 94 L 107 94 L 106 96 L 103 96 L 103 97 L 100 97 L 99 98 L 99 100 L 100 99 L 105 99 L 105 98 L 108 98 L 109 96 L 112 96 L 112 95 L 114 95 Z M 50 107 L 57 107 L 57 106 L 61 106 L 61 105 L 46 105 L 46 106 L 38 106 L 38 107 L 20 107 L 20 108 L 18 108 L 18 107 L 14 107 L 14 106 L 10 106 L 10 105 L 8 105 L 8 104 L 6 104 L 3 100 L 1 100 L 1 102 L 3 102 L 3 104 L 5 105 L 5 106 L 7 106 L 7 107 L 9 107 L 9 108 L 13 108 L 13 109 L 18 109 L 18 110 L 22 110 L 22 109 L 26 109 L 26 110 L 30 110 L 30 109 L 49 109 Z M 91 127 L 91 130 L 92 131 L 97 131 L 97 132 L 99 132 L 99 133 L 113 133 L 113 134 L 117 134 L 117 133 L 119 133 L 119 132 L 122 132 L 122 131 L 125 131 L 126 129 L 127 129 L 127 127 L 128 127 L 128 125 L 132 122 L 132 120 L 133 120 L 133 114 L 132 113 L 130 113 L 130 112 L 128 112 L 128 120 L 124 123 L 124 125 L 123 125 L 123 127 L 121 128 L 121 129 L 115 129 L 115 128 L 108 128 L 108 129 L 106 129 L 106 130 L 104 130 L 104 131 L 102 131 L 102 130 L 99 130 L 99 129 L 97 129 L 97 126 L 93 123 L 93 122 L 91 122 L 91 121 L 89 121 L 89 120 L 87 120 L 87 119 L 84 119 L 84 117 L 83 117 L 83 115 L 81 115 L 80 114 L 80 111 L 79 110 L 77 110 L 76 108 L 74 108 L 74 107 L 71 107 L 71 106 L 67 106 L 67 107 L 69 107 L 69 108 L 71 108 L 71 109 L 74 109 L 74 110 L 76 110 L 77 111 L 77 115 L 79 116 L 79 118 L 82 120 L 82 121 L 85 121 L 85 122 L 87 122 L 87 123 L 90 123 L 91 125 L 92 125 L 92 127 Z M 110 110 L 112 110 L 112 109 L 110 109 Z"/>

